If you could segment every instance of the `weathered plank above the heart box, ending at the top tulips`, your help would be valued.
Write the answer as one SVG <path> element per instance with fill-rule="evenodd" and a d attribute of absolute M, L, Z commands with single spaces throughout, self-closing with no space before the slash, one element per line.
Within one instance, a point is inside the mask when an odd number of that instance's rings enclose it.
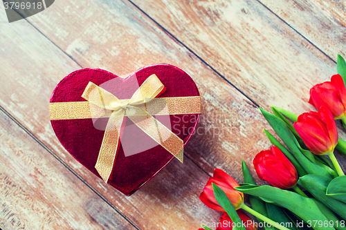
<path fill-rule="evenodd" d="M 309 88 L 336 73 L 334 61 L 258 1 L 133 2 L 264 108 L 308 111 Z"/>

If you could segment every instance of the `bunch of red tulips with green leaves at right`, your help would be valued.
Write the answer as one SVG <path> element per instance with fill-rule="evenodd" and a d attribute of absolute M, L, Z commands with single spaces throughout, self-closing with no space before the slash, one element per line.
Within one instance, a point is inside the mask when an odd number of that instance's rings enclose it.
<path fill-rule="evenodd" d="M 224 212 L 217 226 L 210 227 L 346 230 L 346 176 L 334 156 L 334 148 L 346 154 L 335 122 L 341 119 L 346 128 L 346 62 L 340 55 L 337 68 L 330 82 L 310 90 L 309 103 L 318 112 L 298 116 L 274 106 L 273 114 L 260 108 L 284 143 L 264 130 L 273 146 L 253 160 L 259 178 L 271 186 L 257 186 L 244 161 L 241 185 L 215 169 L 199 196 L 211 209 Z M 244 193 L 252 208 L 244 204 Z M 254 215 L 257 224 L 242 210 Z"/>

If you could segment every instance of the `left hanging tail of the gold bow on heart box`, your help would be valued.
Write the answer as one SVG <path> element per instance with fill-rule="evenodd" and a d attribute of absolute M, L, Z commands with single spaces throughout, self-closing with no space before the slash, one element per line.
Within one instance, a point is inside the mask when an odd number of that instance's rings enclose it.
<path fill-rule="evenodd" d="M 118 154 L 118 146 L 120 144 L 119 133 L 123 120 L 124 111 L 120 110 L 111 113 L 106 130 L 104 131 L 98 160 L 95 164 L 95 169 L 106 183 L 113 171 L 113 165 L 116 161 L 116 155 Z"/>

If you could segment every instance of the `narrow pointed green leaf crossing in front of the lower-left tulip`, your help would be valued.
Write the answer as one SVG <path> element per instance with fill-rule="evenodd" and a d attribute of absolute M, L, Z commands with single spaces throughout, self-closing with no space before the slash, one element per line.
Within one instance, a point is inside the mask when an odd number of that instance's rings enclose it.
<path fill-rule="evenodd" d="M 215 199 L 217 200 L 217 203 L 225 209 L 226 213 L 230 216 L 230 220 L 233 221 L 235 226 L 238 230 L 246 230 L 245 227 L 243 227 L 243 222 L 239 218 L 239 215 L 237 214 L 237 211 L 235 211 L 235 207 L 233 207 L 233 204 L 228 199 L 226 193 L 222 191 L 222 189 L 219 188 L 216 184 L 212 183 L 212 189 L 214 190 Z"/>

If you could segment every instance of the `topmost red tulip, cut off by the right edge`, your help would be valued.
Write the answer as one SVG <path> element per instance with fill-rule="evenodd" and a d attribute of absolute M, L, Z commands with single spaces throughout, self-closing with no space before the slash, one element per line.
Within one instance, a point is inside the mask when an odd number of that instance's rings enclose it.
<path fill-rule="evenodd" d="M 334 119 L 342 119 L 346 115 L 346 88 L 343 77 L 333 75 L 330 82 L 313 86 L 310 90 L 309 103 L 320 108 L 326 106 Z"/>

